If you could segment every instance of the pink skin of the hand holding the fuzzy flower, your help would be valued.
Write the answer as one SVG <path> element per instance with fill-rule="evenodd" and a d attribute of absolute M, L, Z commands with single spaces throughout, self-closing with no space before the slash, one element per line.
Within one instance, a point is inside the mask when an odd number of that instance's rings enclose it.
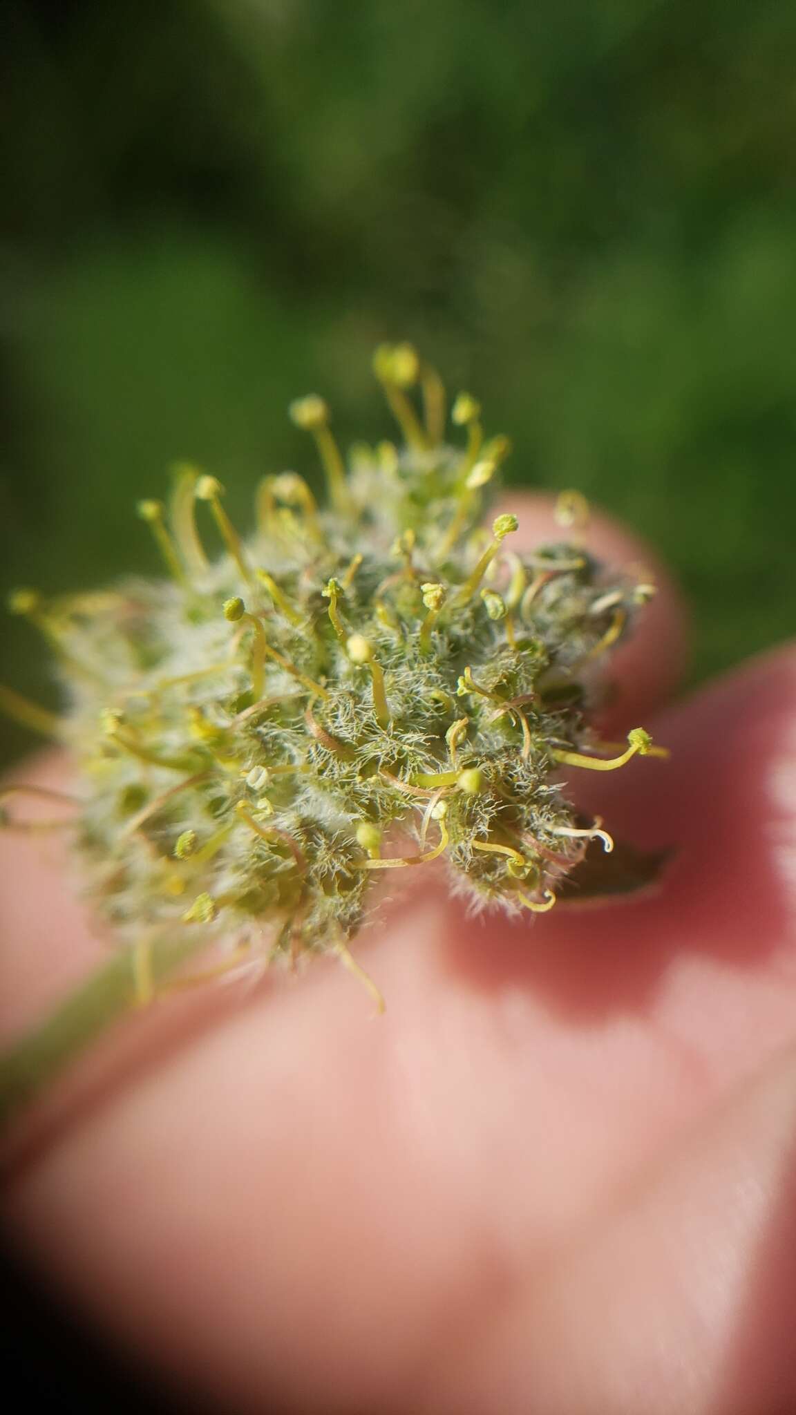
<path fill-rule="evenodd" d="M 589 545 L 650 563 L 603 519 Z M 183 995 L 20 1126 L 20 1242 L 164 1380 L 225 1411 L 796 1408 L 796 655 L 650 719 L 659 582 L 612 730 L 671 763 L 571 780 L 677 846 L 663 887 L 513 925 L 412 874 L 357 944 L 384 1017 L 333 961 Z M 101 944 L 30 838 L 0 869 L 10 1034 Z"/>

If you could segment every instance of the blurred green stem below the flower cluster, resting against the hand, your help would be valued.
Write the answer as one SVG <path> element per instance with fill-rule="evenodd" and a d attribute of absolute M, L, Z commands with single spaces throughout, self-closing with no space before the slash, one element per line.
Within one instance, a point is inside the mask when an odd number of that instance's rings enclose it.
<path fill-rule="evenodd" d="M 183 928 L 152 944 L 150 972 L 157 986 L 191 954 L 207 947 L 203 930 Z M 135 948 L 116 952 L 50 1016 L 0 1053 L 0 1131 L 30 1105 L 89 1043 L 139 1006 Z"/>

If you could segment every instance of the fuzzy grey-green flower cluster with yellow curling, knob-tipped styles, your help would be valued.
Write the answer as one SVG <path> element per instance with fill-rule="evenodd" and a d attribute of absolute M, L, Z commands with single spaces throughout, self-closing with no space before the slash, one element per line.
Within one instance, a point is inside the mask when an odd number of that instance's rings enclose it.
<path fill-rule="evenodd" d="M 55 647 L 81 869 L 142 996 L 150 942 L 180 930 L 201 930 L 220 969 L 351 962 L 385 870 L 440 860 L 479 906 L 545 911 L 591 842 L 612 846 L 562 768 L 657 750 L 637 729 L 605 756 L 588 716 L 652 587 L 606 572 L 576 528 L 528 552 L 514 515 L 484 526 L 507 440 L 484 439 L 469 395 L 448 416 L 411 347 L 380 348 L 375 372 L 397 444 L 343 457 L 322 398 L 290 408 L 324 509 L 296 473 L 265 477 L 244 539 L 220 483 L 181 466 L 169 507 L 139 504 L 169 579 L 13 596 Z M 561 509 L 576 522 L 581 502 Z M 6 706 L 25 719 L 7 691 Z"/>

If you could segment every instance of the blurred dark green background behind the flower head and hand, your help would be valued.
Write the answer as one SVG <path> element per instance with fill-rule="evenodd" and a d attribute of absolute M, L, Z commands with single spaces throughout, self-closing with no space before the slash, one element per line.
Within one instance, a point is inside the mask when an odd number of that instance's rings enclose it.
<path fill-rule="evenodd" d="M 245 515 L 384 434 L 409 338 L 674 563 L 693 676 L 793 631 L 793 0 L 4 4 L 0 587 L 154 569 L 178 457 Z M 0 676 L 52 700 L 3 623 Z M 25 746 L 3 727 L 0 751 Z"/>

